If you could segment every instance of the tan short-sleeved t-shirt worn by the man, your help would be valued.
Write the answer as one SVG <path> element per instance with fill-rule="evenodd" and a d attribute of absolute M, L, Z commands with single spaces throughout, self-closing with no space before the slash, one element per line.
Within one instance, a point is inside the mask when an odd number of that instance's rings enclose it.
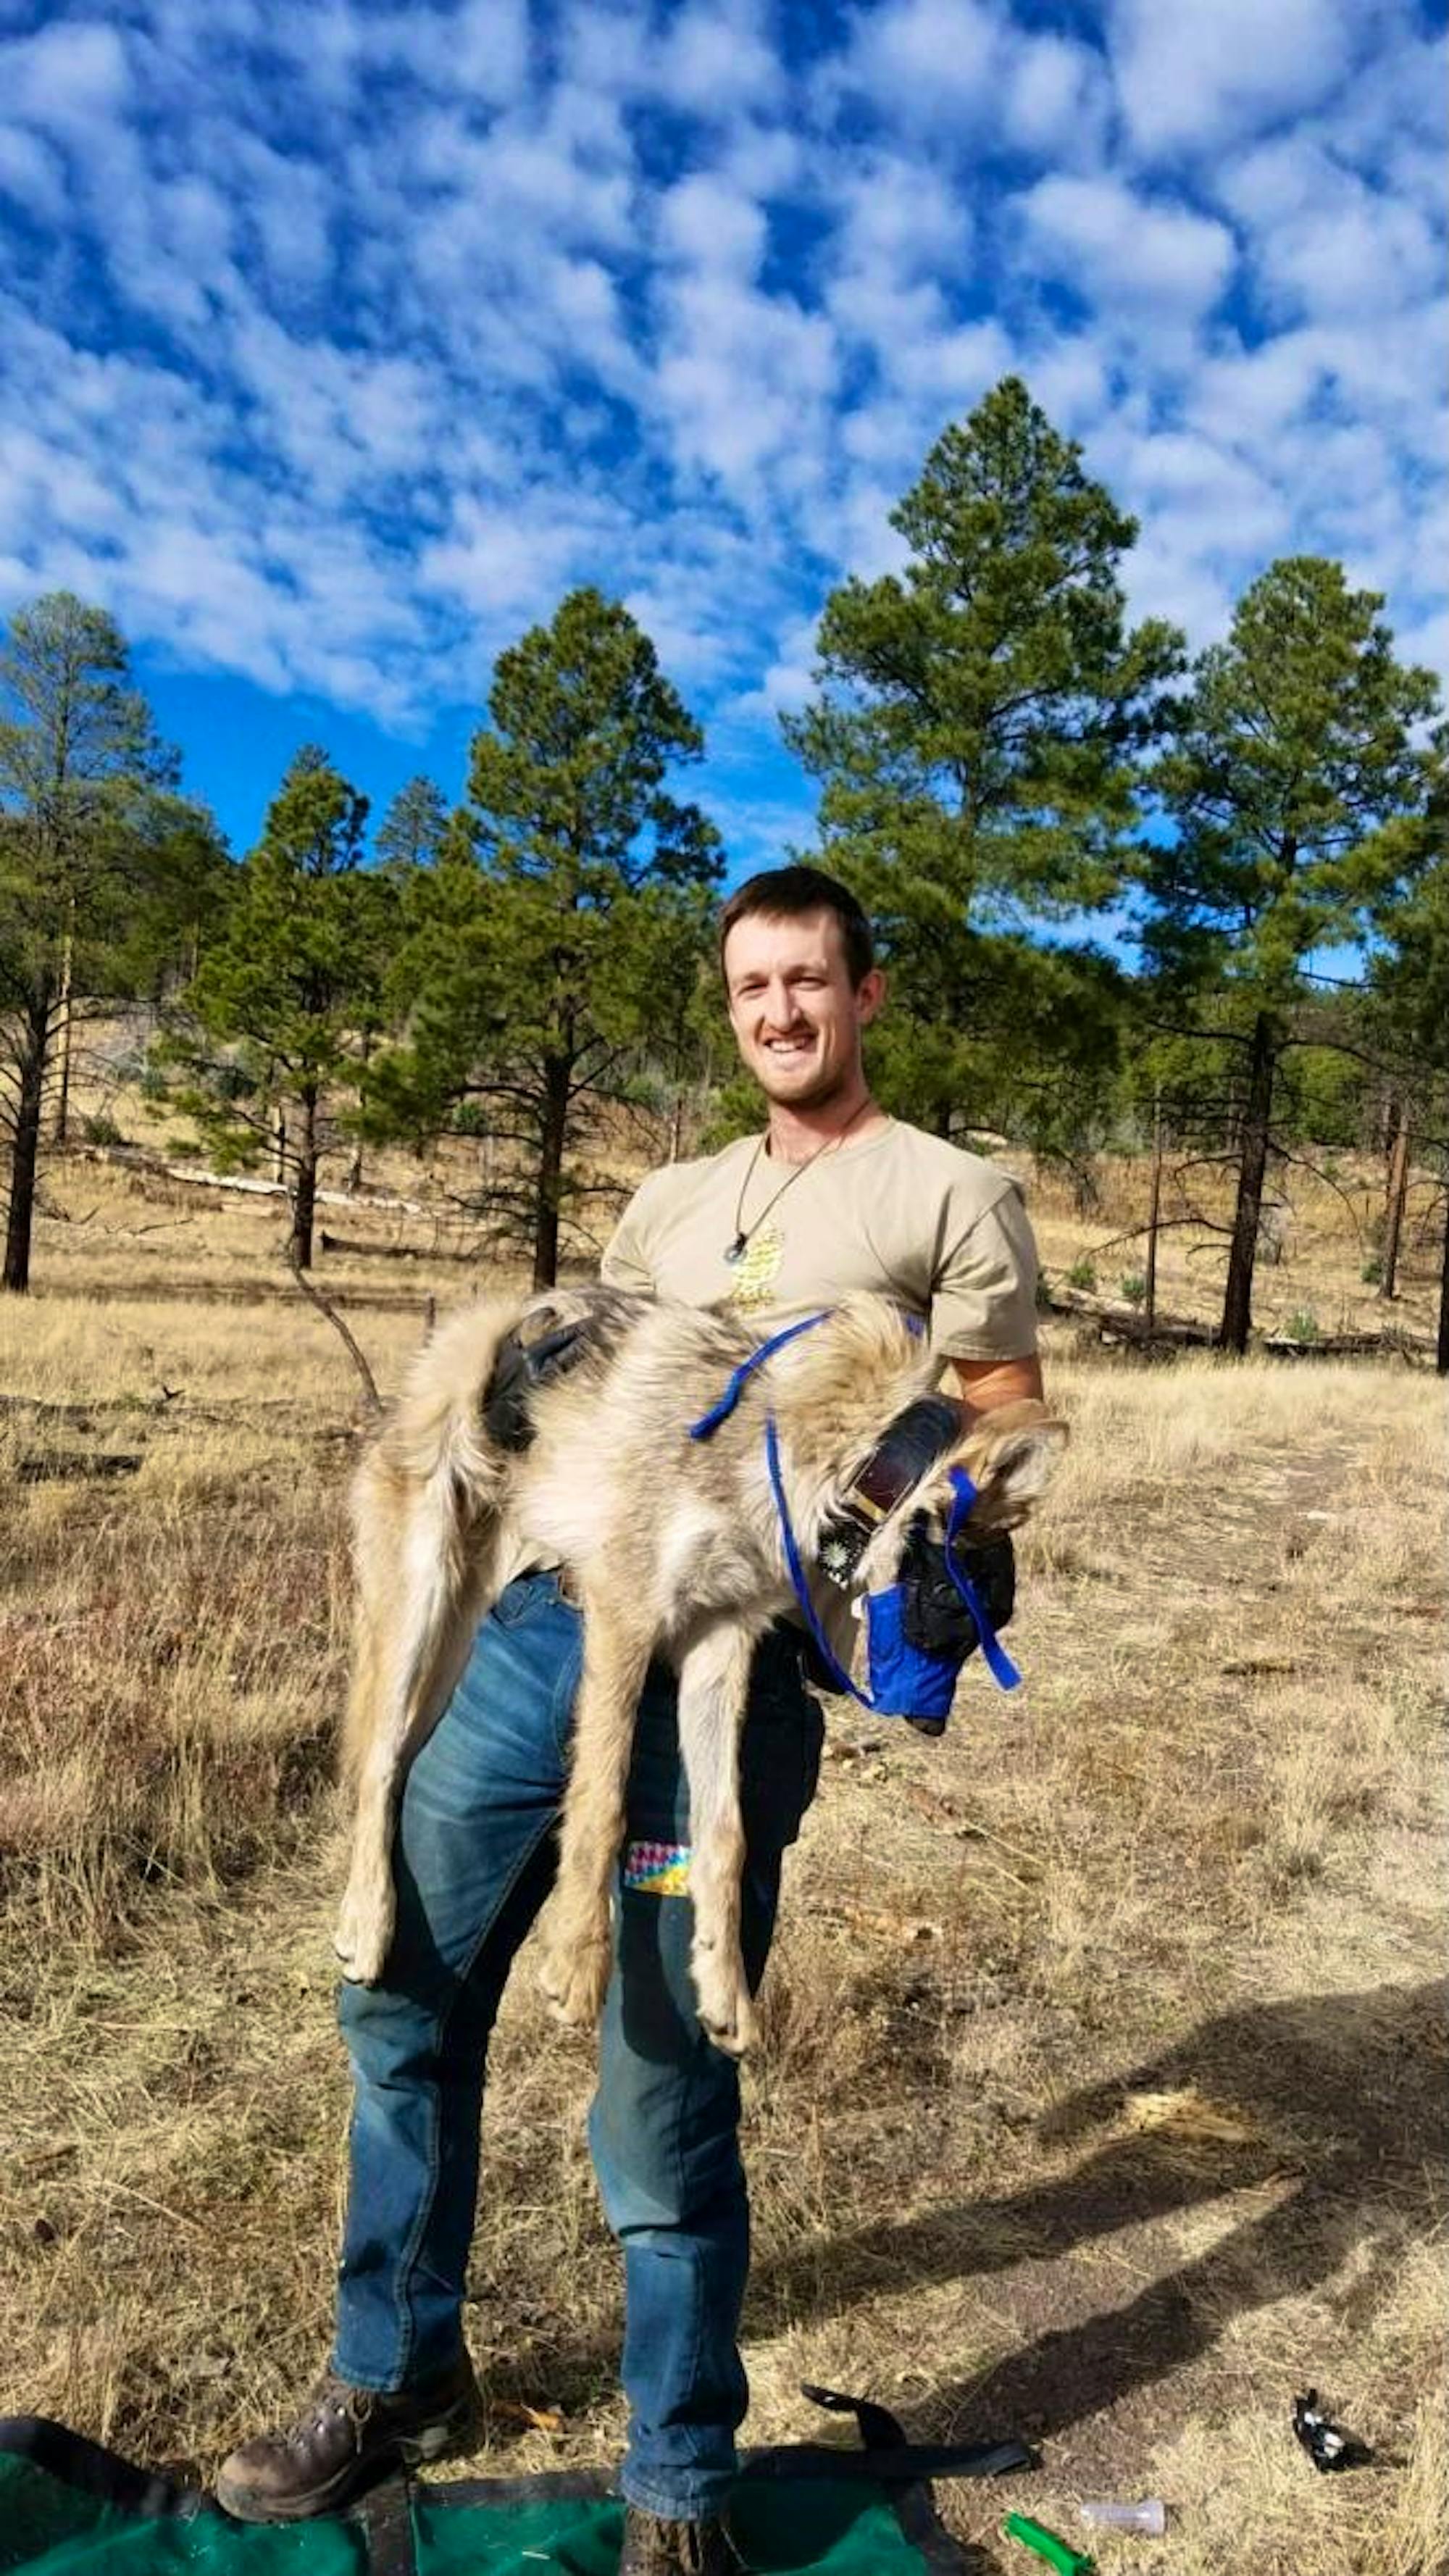
<path fill-rule="evenodd" d="M 896 1118 L 795 1167 L 790 1188 L 770 1154 L 749 1170 L 757 1146 L 651 1172 L 605 1252 L 607 1285 L 762 1327 L 872 1288 L 927 1324 L 939 1360 L 1035 1352 L 1037 1247 L 1009 1172 Z M 749 1242 L 726 1262 L 736 1231 Z"/>

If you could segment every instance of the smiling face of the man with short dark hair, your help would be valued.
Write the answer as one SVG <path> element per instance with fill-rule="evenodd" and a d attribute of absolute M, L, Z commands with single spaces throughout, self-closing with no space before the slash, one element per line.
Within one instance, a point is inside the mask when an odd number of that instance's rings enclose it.
<path fill-rule="evenodd" d="M 767 1100 L 818 1110 L 860 1090 L 860 1036 L 885 981 L 878 969 L 849 981 L 834 912 L 746 912 L 726 940 L 723 976 L 739 1054 Z"/>

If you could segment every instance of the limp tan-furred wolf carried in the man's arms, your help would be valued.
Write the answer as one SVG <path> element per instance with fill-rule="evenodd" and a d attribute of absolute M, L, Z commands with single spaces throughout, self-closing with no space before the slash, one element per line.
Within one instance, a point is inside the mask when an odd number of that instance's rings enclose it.
<path fill-rule="evenodd" d="M 484 1417 L 499 1355 L 510 1337 L 517 1347 L 558 1324 L 579 1327 L 571 1365 L 533 1386 L 528 1448 L 504 1448 Z M 543 1989 L 566 2022 L 600 2012 L 633 1713 L 646 1667 L 661 1656 L 679 1682 L 700 2022 L 731 2056 L 752 2045 L 739 1947 L 739 1736 L 752 1651 L 772 1620 L 798 1610 L 767 1417 L 811 1600 L 844 1662 L 849 1595 L 893 1579 L 916 1515 L 939 1528 L 952 1466 L 978 1489 L 968 1522 L 975 1540 L 1032 1510 L 1066 1443 L 1066 1425 L 1045 1404 L 1006 1404 L 975 1419 L 885 1510 L 844 1589 L 821 1579 L 831 1522 L 883 1432 L 934 1388 L 939 1363 L 891 1298 L 852 1293 L 770 1350 L 710 1437 L 690 1437 L 759 1342 L 744 1321 L 708 1309 L 577 1291 L 461 1309 L 414 1358 L 350 1494 L 345 1775 L 355 1829 L 335 1932 L 347 1978 L 376 1984 L 386 1965 L 391 1832 L 407 1759 L 448 1703 L 507 1579 L 525 1564 L 553 1564 L 582 1607 L 584 1667 Z"/>

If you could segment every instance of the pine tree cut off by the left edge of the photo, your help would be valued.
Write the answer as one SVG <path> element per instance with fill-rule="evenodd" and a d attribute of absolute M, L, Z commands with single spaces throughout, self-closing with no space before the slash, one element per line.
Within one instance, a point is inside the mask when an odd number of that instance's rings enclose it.
<path fill-rule="evenodd" d="M 131 688 L 121 629 L 69 590 L 15 611 L 0 647 L 0 1285 L 31 1280 L 46 1100 L 64 1141 L 72 1033 L 144 994 L 221 866 L 211 817 Z"/>

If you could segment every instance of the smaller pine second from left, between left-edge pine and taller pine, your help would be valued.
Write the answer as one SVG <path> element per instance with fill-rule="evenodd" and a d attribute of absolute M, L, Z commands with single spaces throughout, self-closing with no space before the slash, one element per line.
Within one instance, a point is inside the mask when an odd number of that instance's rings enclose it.
<path fill-rule="evenodd" d="M 358 1028 L 386 961 L 389 930 L 360 876 L 365 817 L 368 799 L 306 744 L 180 997 L 183 1025 L 160 1048 L 221 1167 L 257 1162 L 281 1136 L 301 1270 L 319 1162 L 340 1141 L 332 1113 L 358 1087 Z"/>

